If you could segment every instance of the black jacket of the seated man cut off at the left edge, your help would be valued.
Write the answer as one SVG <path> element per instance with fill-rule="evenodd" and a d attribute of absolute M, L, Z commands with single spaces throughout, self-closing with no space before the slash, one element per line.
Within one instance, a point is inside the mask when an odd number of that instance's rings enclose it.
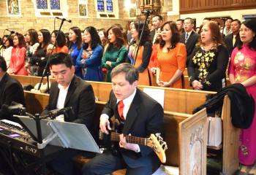
<path fill-rule="evenodd" d="M 20 85 L 20 82 L 13 79 L 9 74 L 6 73 L 0 82 L 0 107 L 3 104 L 10 106 L 12 101 L 25 106 L 22 85 Z M 2 107 L 0 108 L 0 119 L 13 120 L 12 115 L 4 111 Z"/>

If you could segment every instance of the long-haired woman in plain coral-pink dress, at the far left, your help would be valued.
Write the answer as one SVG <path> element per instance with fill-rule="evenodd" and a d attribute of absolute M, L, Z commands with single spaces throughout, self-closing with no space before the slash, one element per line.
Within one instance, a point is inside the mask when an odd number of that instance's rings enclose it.
<path fill-rule="evenodd" d="M 10 74 L 28 75 L 25 69 L 26 48 L 25 39 L 22 34 L 13 36 L 12 55 L 10 59 Z"/>

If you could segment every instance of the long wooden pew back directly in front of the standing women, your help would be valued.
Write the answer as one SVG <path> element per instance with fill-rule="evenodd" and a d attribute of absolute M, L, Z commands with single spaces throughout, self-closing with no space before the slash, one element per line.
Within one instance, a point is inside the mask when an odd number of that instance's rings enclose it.
<path fill-rule="evenodd" d="M 36 85 L 41 79 L 40 77 L 19 75 L 12 75 L 12 77 L 17 79 L 23 86 Z M 45 78 L 44 81 L 46 81 Z M 50 82 L 54 81 L 54 79 L 50 78 Z M 111 84 L 109 82 L 88 82 L 94 88 L 94 95 L 98 98 L 99 101 L 108 101 L 109 93 L 111 90 Z M 210 91 L 159 88 L 143 85 L 139 85 L 139 88 L 140 90 L 143 90 L 143 88 L 155 88 L 165 90 L 165 111 L 181 112 L 187 114 L 192 114 L 192 111 L 193 109 L 195 109 L 196 106 L 200 106 L 200 104 L 203 104 L 206 101 L 206 95 L 214 94 L 214 92 Z"/>

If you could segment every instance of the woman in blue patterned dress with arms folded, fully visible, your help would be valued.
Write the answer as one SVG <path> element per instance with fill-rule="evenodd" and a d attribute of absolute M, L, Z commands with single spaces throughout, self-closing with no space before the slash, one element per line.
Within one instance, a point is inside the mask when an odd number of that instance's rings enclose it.
<path fill-rule="evenodd" d="M 84 44 L 78 55 L 76 66 L 82 69 L 82 77 L 89 81 L 103 81 L 101 69 L 103 47 L 96 28 L 89 26 L 83 33 Z"/>

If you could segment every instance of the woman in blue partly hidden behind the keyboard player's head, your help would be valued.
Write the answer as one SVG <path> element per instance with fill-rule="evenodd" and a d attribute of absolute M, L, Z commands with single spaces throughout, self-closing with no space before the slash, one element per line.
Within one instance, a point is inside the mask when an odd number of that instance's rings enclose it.
<path fill-rule="evenodd" d="M 72 63 L 75 66 L 75 75 L 82 78 L 82 69 L 76 65 L 78 55 L 82 48 L 82 35 L 78 27 L 69 28 L 69 55 L 72 58 Z"/>

